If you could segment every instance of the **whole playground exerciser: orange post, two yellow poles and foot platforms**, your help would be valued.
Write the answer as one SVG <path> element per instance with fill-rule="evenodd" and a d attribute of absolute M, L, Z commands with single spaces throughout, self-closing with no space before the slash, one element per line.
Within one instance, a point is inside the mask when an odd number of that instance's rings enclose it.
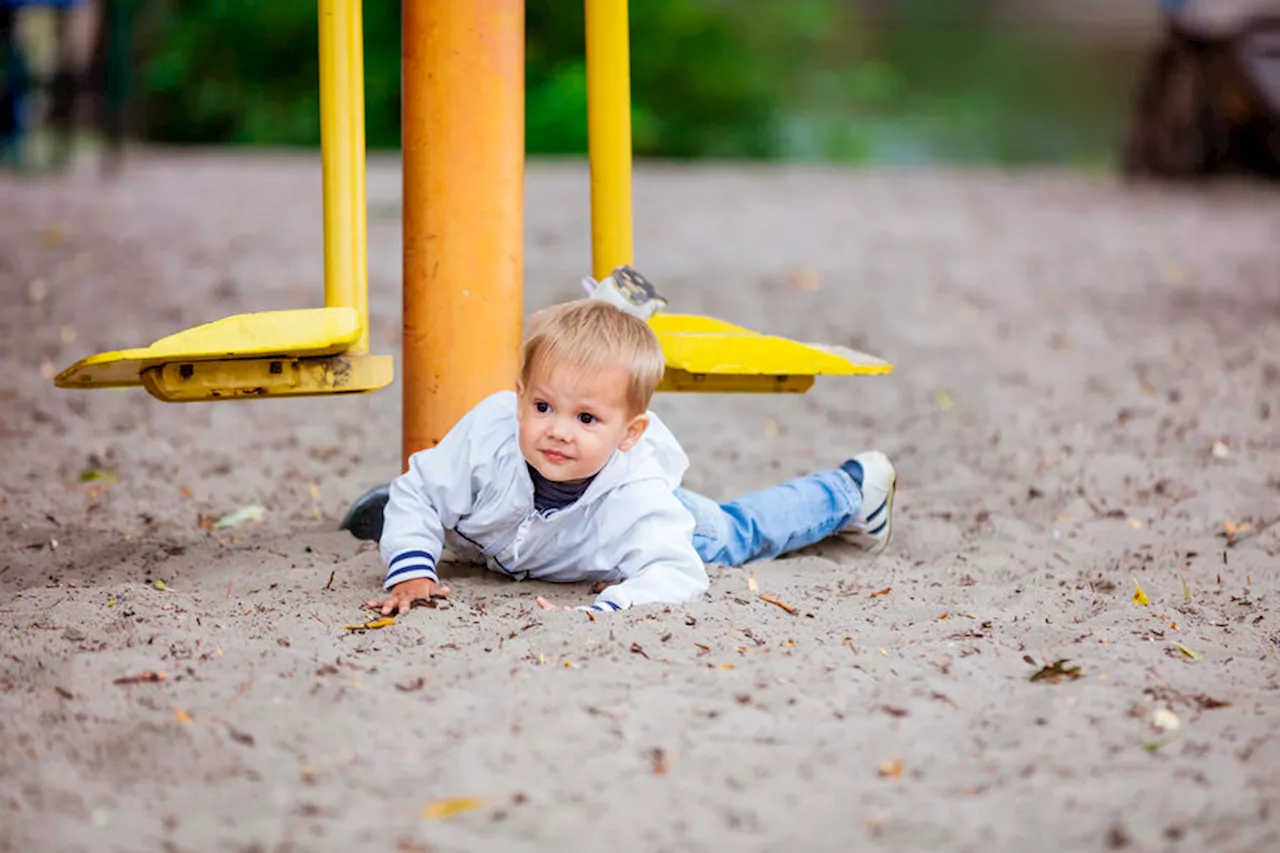
<path fill-rule="evenodd" d="M 634 263 L 627 0 L 585 0 L 591 254 Z M 369 392 L 360 0 L 319 0 L 325 306 L 224 318 L 104 352 L 60 388 L 142 386 L 168 402 Z M 524 0 L 403 4 L 403 456 L 434 446 L 516 375 L 522 320 Z M 678 301 L 678 300 L 677 300 Z M 804 392 L 818 375 L 886 374 L 844 347 L 659 313 L 660 391 Z"/>

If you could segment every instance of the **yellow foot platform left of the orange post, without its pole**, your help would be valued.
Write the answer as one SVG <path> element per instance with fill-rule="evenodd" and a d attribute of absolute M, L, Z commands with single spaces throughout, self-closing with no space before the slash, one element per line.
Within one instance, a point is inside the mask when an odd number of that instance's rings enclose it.
<path fill-rule="evenodd" d="M 347 353 L 362 333 L 351 307 L 237 314 L 148 347 L 88 356 L 54 384 L 143 386 L 166 402 L 376 391 L 392 382 L 392 357 Z"/>

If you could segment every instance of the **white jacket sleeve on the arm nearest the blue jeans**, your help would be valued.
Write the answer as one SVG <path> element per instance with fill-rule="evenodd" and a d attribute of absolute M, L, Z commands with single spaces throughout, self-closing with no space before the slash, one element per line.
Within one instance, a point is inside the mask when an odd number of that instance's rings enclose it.
<path fill-rule="evenodd" d="M 612 547 L 622 580 L 602 592 L 588 610 L 626 610 L 635 605 L 684 605 L 707 592 L 707 566 L 694 549 L 694 517 L 664 483 L 648 480 L 620 488 L 608 498 L 623 524 Z M 635 516 L 630 524 L 626 517 Z"/>

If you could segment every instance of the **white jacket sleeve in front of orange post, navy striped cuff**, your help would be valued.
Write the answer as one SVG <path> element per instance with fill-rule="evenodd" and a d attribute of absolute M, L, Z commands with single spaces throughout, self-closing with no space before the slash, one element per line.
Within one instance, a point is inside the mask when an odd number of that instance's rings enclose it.
<path fill-rule="evenodd" d="M 415 578 L 439 580 L 435 564 L 444 532 L 457 526 L 475 502 L 475 439 L 488 407 L 485 401 L 468 411 L 439 444 L 410 456 L 408 470 L 392 480 L 378 543 L 387 564 L 384 589 Z"/>

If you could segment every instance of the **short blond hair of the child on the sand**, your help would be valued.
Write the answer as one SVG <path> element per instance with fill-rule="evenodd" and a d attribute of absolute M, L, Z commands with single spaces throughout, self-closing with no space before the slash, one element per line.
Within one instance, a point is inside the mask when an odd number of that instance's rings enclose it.
<path fill-rule="evenodd" d="M 534 370 L 547 365 L 588 373 L 626 369 L 631 377 L 627 403 L 632 414 L 641 414 L 649 409 L 667 361 L 648 323 L 600 300 L 575 300 L 529 318 L 520 365 L 525 387 Z"/>

